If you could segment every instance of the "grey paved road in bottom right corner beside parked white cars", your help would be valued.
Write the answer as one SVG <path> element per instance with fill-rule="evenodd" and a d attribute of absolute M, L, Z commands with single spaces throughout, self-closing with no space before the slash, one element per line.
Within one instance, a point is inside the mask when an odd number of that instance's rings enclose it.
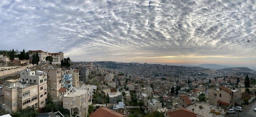
<path fill-rule="evenodd" d="M 243 105 L 242 112 L 236 111 L 236 114 L 229 114 L 229 117 L 256 117 L 256 111 L 253 111 L 254 108 L 256 108 L 256 101 L 249 105 Z"/>

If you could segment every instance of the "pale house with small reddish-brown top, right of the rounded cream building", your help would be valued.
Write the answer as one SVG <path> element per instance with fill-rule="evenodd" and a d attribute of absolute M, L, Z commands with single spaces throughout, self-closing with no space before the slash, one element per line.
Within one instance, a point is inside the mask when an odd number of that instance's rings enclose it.
<path fill-rule="evenodd" d="M 118 100 L 122 100 L 122 93 L 116 91 L 116 89 L 110 89 L 108 92 L 109 103 L 118 103 Z"/>

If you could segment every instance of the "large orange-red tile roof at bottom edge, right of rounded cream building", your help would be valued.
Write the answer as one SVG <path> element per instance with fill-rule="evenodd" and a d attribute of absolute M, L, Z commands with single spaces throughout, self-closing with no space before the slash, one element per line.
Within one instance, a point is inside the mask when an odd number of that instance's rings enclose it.
<path fill-rule="evenodd" d="M 105 107 L 100 107 L 89 117 L 125 117 L 125 115 L 122 115 Z"/>

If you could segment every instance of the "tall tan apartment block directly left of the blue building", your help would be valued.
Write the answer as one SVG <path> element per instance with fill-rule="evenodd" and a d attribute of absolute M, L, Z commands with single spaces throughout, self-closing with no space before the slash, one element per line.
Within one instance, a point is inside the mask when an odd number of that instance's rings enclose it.
<path fill-rule="evenodd" d="M 58 92 L 61 85 L 64 84 L 61 68 L 54 69 L 52 67 L 42 69 L 47 73 L 47 94 L 52 96 L 53 101 L 59 101 L 62 93 Z"/>

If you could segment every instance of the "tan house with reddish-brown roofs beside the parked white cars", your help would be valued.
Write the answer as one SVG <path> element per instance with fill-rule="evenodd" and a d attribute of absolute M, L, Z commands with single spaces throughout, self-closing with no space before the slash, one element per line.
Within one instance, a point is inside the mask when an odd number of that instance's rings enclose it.
<path fill-rule="evenodd" d="M 209 103 L 227 108 L 241 105 L 241 89 L 225 86 L 209 89 Z"/>

